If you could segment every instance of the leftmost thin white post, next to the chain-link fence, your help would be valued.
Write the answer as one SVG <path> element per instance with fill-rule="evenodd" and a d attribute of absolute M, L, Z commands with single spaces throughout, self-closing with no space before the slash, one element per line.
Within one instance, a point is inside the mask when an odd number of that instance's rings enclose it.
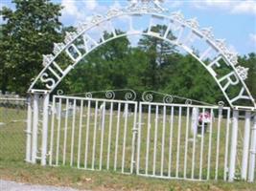
<path fill-rule="evenodd" d="M 27 113 L 27 141 L 26 141 L 26 161 L 31 162 L 31 138 L 32 138 L 32 106 L 31 96 L 28 98 L 28 113 Z"/>

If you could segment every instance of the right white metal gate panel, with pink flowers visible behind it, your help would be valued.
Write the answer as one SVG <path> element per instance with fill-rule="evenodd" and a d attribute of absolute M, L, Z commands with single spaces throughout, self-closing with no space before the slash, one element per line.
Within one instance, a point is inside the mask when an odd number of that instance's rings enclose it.
<path fill-rule="evenodd" d="M 141 102 L 137 174 L 226 180 L 230 109 Z"/>

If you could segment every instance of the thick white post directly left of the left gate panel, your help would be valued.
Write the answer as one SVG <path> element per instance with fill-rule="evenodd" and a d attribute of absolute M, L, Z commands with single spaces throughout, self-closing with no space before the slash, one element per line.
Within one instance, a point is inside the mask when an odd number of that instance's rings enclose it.
<path fill-rule="evenodd" d="M 46 165 L 47 156 L 47 137 L 48 137 L 48 113 L 49 112 L 49 94 L 43 96 L 43 118 L 42 118 L 42 148 L 41 165 Z"/>

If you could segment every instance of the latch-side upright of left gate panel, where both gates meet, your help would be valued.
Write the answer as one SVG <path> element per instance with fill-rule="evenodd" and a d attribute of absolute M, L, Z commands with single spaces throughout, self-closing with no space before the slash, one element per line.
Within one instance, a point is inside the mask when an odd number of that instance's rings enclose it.
<path fill-rule="evenodd" d="M 133 165 L 135 163 L 135 144 L 136 136 L 138 133 L 137 129 L 137 102 L 134 104 L 134 117 L 133 117 L 133 128 L 132 128 L 132 142 L 131 142 L 131 159 L 130 159 L 130 174 L 133 173 Z"/>

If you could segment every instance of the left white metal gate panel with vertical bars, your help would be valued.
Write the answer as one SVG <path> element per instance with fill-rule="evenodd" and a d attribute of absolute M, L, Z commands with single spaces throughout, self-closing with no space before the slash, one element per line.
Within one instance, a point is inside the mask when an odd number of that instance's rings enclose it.
<path fill-rule="evenodd" d="M 132 173 L 136 110 L 133 101 L 54 96 L 50 165 Z"/>

